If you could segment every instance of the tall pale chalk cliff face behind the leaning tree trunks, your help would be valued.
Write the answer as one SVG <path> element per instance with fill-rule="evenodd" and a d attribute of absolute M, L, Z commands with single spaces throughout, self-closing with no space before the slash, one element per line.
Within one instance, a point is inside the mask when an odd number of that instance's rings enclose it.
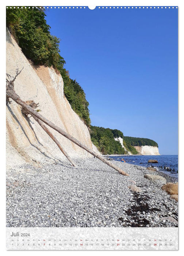
<path fill-rule="evenodd" d="M 39 102 L 41 114 L 64 129 L 88 148 L 93 146 L 87 126 L 72 110 L 64 96 L 63 80 L 53 68 L 34 67 L 24 56 L 7 30 L 7 73 L 15 76 L 16 68 L 22 72 L 15 80 L 15 91 L 23 101 Z M 31 163 L 59 162 L 65 158 L 57 145 L 35 120 L 22 115 L 21 107 L 14 101 L 8 104 L 7 118 L 7 166 Z M 91 157 L 82 148 L 49 127 L 70 157 Z"/>

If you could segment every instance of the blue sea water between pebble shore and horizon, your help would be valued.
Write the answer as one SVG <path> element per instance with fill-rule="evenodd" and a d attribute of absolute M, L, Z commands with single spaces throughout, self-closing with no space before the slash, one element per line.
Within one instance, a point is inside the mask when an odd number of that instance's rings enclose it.
<path fill-rule="evenodd" d="M 157 170 L 164 172 L 172 177 L 177 177 L 177 171 L 178 171 L 178 155 L 128 155 L 128 156 L 116 156 L 111 157 L 116 161 L 121 161 L 122 158 L 126 161 L 126 163 L 131 163 L 133 165 L 139 165 L 139 166 L 154 166 L 157 167 Z M 148 163 L 147 161 L 149 159 L 157 160 L 158 163 Z M 159 167 L 159 166 L 162 166 Z M 172 169 L 171 172 L 164 170 L 165 167 L 169 167 Z M 175 169 L 175 172 L 173 171 Z"/>

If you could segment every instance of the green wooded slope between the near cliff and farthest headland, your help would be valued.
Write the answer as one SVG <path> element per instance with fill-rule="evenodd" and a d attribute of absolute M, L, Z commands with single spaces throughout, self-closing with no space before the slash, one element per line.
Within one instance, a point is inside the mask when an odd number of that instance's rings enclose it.
<path fill-rule="evenodd" d="M 127 152 L 122 148 L 121 144 L 114 139 L 113 132 L 118 130 L 111 130 L 109 128 L 91 126 L 91 141 L 104 154 L 126 154 Z M 119 131 L 120 132 L 120 131 Z M 122 133 L 122 132 L 120 132 Z M 119 137 L 119 136 L 118 136 Z"/>

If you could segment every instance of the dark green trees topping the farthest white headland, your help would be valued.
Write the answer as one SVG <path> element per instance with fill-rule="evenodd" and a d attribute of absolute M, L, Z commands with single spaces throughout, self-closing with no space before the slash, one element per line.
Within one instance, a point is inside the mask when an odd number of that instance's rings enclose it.
<path fill-rule="evenodd" d="M 124 136 L 126 144 L 129 143 L 131 146 L 153 146 L 158 147 L 158 144 L 154 140 L 145 139 L 145 138 L 135 138 Z"/>

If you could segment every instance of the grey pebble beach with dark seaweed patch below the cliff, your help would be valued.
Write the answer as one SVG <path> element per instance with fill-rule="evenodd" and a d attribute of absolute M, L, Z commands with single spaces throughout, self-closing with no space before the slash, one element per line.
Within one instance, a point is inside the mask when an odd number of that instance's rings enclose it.
<path fill-rule="evenodd" d="M 177 201 L 144 176 L 177 178 L 118 161 L 111 162 L 130 176 L 97 158 L 73 161 L 77 168 L 58 161 L 8 169 L 7 227 L 178 226 Z"/>

